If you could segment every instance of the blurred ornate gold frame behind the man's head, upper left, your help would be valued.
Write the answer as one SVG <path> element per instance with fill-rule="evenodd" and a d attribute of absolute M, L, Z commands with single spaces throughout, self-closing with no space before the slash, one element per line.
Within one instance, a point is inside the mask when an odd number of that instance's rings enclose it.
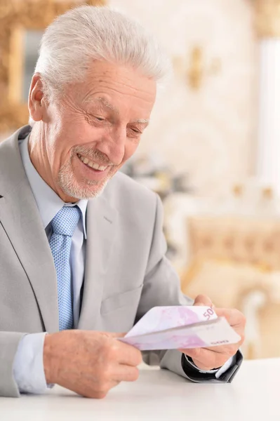
<path fill-rule="evenodd" d="M 25 33 L 43 32 L 56 16 L 74 6 L 105 3 L 106 0 L 0 0 L 0 133 L 13 131 L 28 121 L 27 103 L 22 98 Z"/>

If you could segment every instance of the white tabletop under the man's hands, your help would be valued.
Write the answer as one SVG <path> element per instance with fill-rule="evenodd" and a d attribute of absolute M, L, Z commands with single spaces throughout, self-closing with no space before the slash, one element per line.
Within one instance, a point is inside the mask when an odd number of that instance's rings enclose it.
<path fill-rule="evenodd" d="M 1 421 L 213 420 L 279 421 L 280 359 L 244 361 L 230 385 L 187 382 L 166 370 L 140 370 L 105 399 L 85 399 L 62 387 L 43 396 L 0 398 Z"/>

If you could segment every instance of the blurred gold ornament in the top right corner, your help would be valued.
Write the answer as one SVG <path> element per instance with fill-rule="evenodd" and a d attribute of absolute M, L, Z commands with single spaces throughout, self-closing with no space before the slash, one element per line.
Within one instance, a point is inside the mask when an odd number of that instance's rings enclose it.
<path fill-rule="evenodd" d="M 280 38 L 280 0 L 255 0 L 256 27 L 262 38 Z"/>

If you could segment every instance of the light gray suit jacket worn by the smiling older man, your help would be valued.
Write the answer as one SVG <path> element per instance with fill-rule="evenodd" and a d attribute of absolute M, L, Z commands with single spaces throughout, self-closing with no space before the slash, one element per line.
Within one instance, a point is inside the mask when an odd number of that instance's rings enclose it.
<path fill-rule="evenodd" d="M 0 396 L 18 396 L 13 360 L 22 335 L 59 330 L 53 256 L 22 166 L 20 133 L 0 145 Z M 80 329 L 126 332 L 154 306 L 192 304 L 165 257 L 156 194 L 118 173 L 88 202 L 86 225 Z M 147 352 L 145 359 L 187 377 L 181 355 Z"/>

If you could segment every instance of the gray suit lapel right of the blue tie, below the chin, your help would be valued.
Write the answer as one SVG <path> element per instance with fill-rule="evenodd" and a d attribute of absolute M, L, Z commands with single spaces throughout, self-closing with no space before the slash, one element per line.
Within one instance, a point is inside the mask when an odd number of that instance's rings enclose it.
<path fill-rule="evenodd" d="M 105 195 L 88 201 L 86 269 L 79 329 L 94 330 L 100 316 L 103 286 L 114 243 L 117 213 Z"/>

